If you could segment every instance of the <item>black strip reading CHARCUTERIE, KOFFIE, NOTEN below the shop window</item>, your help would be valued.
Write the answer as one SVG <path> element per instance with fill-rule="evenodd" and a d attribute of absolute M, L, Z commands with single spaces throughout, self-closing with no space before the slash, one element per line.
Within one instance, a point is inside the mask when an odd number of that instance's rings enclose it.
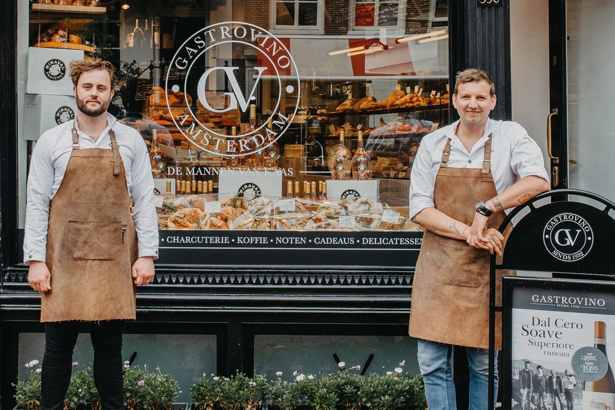
<path fill-rule="evenodd" d="M 157 264 L 416 265 L 423 232 L 159 231 Z"/>

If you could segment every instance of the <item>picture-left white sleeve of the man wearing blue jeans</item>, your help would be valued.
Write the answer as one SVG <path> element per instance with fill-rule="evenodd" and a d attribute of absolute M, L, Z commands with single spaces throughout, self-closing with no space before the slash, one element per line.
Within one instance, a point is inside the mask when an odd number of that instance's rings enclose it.
<path fill-rule="evenodd" d="M 427 141 L 423 140 L 416 152 L 415 162 L 410 172 L 410 204 L 408 207 L 410 219 L 425 208 L 434 206 L 434 184 L 435 175 L 432 169 L 431 152 L 427 148 Z"/>

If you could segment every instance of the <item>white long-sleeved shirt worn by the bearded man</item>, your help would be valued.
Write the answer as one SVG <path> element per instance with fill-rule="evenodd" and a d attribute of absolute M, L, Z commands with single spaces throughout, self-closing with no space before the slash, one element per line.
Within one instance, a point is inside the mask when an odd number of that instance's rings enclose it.
<path fill-rule="evenodd" d="M 126 183 L 133 200 L 133 219 L 137 230 L 139 257 L 158 258 L 158 222 L 154 206 L 154 179 L 145 141 L 137 130 L 121 124 L 108 114 L 108 125 L 96 142 L 83 132 L 75 120 L 42 133 L 34 146 L 28 174 L 23 262 L 45 261 L 51 199 L 58 192 L 68 159 L 73 151 L 73 122 L 80 148 L 111 149 L 109 130 L 113 128 L 124 162 Z"/>

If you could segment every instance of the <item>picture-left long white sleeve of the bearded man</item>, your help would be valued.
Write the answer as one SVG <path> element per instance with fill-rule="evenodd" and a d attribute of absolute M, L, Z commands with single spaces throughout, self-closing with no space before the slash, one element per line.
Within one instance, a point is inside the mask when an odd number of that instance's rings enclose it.
<path fill-rule="evenodd" d="M 26 266 L 30 265 L 30 261 L 45 262 L 53 185 L 54 164 L 47 146 L 47 138 L 42 135 L 32 152 L 26 186 L 26 220 L 23 238 L 23 263 Z"/>

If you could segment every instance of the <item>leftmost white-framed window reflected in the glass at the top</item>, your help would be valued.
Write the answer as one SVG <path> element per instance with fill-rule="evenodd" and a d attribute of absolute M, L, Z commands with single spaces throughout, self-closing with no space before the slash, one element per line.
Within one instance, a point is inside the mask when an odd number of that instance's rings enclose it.
<path fill-rule="evenodd" d="M 271 0 L 272 28 L 276 33 L 322 31 L 324 0 Z"/>

